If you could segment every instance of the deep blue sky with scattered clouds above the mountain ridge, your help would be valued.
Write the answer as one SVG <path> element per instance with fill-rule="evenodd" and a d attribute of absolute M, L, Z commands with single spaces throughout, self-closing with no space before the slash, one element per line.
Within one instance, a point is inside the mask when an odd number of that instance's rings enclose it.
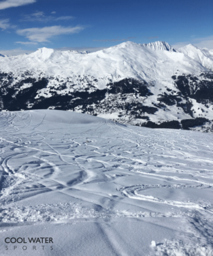
<path fill-rule="evenodd" d="M 98 51 L 125 41 L 213 49 L 212 0 L 0 0 L 0 54 Z"/>

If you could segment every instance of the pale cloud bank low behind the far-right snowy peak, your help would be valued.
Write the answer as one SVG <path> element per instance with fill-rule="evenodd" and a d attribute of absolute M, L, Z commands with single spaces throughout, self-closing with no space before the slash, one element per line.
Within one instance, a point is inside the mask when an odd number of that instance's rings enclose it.
<path fill-rule="evenodd" d="M 206 38 L 193 38 L 190 41 L 186 42 L 177 42 L 173 44 L 172 47 L 178 49 L 183 46 L 186 46 L 187 44 L 193 44 L 199 48 L 213 49 L 213 35 L 208 36 Z"/>

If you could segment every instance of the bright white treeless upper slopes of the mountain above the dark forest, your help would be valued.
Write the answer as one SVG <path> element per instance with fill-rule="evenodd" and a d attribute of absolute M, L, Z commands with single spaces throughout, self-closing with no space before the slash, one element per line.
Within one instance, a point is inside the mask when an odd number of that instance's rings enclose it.
<path fill-rule="evenodd" d="M 39 76 L 94 76 L 101 79 L 94 83 L 103 89 L 108 79 L 119 81 L 125 78 L 165 80 L 180 72 L 206 71 L 201 63 L 193 61 L 182 53 L 165 50 L 167 43 L 135 44 L 124 42 L 102 51 L 89 54 L 76 54 L 76 51 L 54 51 L 39 48 L 35 53 L 19 55 L 0 60 L 2 72 L 22 74 L 26 71 Z M 158 50 L 158 51 L 157 51 Z M 77 79 L 73 79 L 77 81 Z"/>

